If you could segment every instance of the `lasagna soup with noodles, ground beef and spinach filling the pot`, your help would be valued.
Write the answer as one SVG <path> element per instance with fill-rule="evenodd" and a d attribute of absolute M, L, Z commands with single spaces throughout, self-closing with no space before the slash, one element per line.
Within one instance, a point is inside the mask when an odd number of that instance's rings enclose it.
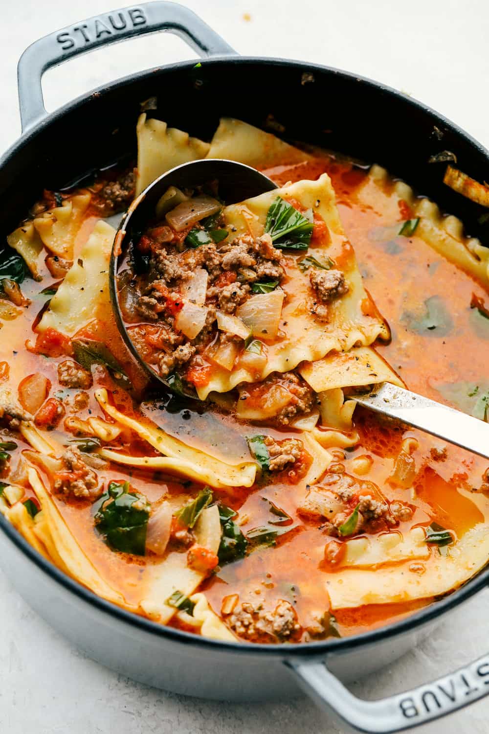
<path fill-rule="evenodd" d="M 46 190 L 0 253 L 0 511 L 48 562 L 161 625 L 281 644 L 435 603 L 489 558 L 488 462 L 357 407 L 380 382 L 488 420 L 489 255 L 373 164 L 224 118 L 141 115 L 136 167 Z M 117 276 L 114 224 L 175 165 Z M 463 345 L 463 348 L 462 348 Z"/>

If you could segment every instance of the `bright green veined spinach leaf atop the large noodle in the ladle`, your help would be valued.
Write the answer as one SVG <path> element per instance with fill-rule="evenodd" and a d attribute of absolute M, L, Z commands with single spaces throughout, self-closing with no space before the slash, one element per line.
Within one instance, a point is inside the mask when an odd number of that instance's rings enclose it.
<path fill-rule="evenodd" d="M 276 197 L 268 209 L 265 232 L 281 250 L 307 250 L 314 225 L 292 204 Z"/>

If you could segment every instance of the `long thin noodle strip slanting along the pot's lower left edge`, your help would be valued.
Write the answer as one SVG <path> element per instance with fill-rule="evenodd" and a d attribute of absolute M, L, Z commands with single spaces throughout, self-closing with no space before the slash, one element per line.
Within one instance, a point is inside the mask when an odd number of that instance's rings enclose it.
<path fill-rule="evenodd" d="M 89 561 L 87 556 L 81 551 L 78 542 L 71 534 L 63 519 L 59 509 L 51 497 L 51 493 L 45 489 L 40 476 L 34 468 L 27 470 L 29 483 L 36 493 L 37 499 L 40 501 L 41 509 L 45 515 L 45 522 L 49 534 L 51 535 L 56 553 L 62 560 L 62 567 L 65 567 L 70 576 L 79 581 L 92 592 L 98 594 L 104 599 L 113 601 L 122 606 L 128 606 L 124 597 L 113 589 L 105 579 L 100 575 L 95 566 Z"/>

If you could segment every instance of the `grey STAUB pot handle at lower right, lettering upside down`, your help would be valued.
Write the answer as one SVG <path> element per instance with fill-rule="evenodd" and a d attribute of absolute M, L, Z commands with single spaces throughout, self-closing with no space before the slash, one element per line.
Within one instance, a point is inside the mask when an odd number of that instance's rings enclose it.
<path fill-rule="evenodd" d="M 391 734 L 440 719 L 489 694 L 489 655 L 422 686 L 375 701 L 354 696 L 322 661 L 285 661 L 301 688 L 348 731 Z"/>

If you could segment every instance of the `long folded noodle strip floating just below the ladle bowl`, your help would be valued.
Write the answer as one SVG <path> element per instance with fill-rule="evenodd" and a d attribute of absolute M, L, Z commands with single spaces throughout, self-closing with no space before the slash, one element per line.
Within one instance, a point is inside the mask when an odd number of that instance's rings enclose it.
<path fill-rule="evenodd" d="M 162 428 L 147 418 L 141 416 L 139 420 L 136 420 L 120 413 L 114 405 L 109 403 L 107 390 L 97 390 L 95 397 L 100 407 L 114 421 L 135 431 L 139 437 L 150 443 L 157 451 L 160 451 L 163 457 L 174 459 L 172 465 L 166 465 L 166 470 L 170 473 L 175 472 L 180 476 L 188 476 L 191 479 L 200 477 L 199 481 L 210 484 L 212 487 L 251 487 L 253 484 L 257 471 L 254 462 L 240 462 L 237 465 L 226 464 L 220 459 L 199 451 L 197 448 L 187 446 L 182 441 L 164 432 Z M 155 458 L 159 459 L 159 457 Z M 115 457 L 113 459 L 117 460 Z M 134 459 L 133 465 L 135 465 Z M 172 468 L 173 471 L 171 471 Z"/>

